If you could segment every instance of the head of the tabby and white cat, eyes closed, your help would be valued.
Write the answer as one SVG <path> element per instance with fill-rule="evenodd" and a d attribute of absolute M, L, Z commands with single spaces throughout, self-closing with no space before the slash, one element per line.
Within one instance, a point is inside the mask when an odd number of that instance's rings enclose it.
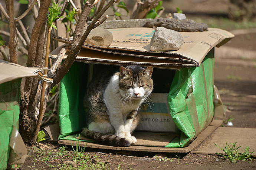
<path fill-rule="evenodd" d="M 153 89 L 151 79 L 153 68 L 142 68 L 138 65 L 120 67 L 119 91 L 128 99 L 146 98 Z"/>

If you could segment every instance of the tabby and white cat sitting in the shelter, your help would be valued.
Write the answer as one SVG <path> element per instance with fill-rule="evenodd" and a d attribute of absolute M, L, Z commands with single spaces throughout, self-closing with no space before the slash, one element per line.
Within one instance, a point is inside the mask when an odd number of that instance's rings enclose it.
<path fill-rule="evenodd" d="M 140 120 L 138 112 L 142 102 L 152 92 L 152 71 L 152 67 L 121 66 L 108 83 L 104 75 L 94 79 L 83 100 L 88 121 L 82 135 L 102 145 L 130 146 L 136 143 L 137 139 L 131 133 Z"/>

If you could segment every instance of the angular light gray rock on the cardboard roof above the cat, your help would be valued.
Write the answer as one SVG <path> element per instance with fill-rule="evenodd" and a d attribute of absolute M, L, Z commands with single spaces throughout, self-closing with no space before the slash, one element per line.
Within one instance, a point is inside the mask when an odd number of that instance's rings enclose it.
<path fill-rule="evenodd" d="M 150 41 L 151 51 L 173 51 L 180 49 L 183 45 L 183 37 L 174 30 L 157 27 Z"/>

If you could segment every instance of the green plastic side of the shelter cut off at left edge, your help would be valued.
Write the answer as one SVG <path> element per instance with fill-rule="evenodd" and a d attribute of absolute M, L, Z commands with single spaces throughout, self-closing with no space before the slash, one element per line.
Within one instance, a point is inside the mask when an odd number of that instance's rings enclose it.
<path fill-rule="evenodd" d="M 0 170 L 7 167 L 13 128 L 18 129 L 21 79 L 0 84 Z"/>

